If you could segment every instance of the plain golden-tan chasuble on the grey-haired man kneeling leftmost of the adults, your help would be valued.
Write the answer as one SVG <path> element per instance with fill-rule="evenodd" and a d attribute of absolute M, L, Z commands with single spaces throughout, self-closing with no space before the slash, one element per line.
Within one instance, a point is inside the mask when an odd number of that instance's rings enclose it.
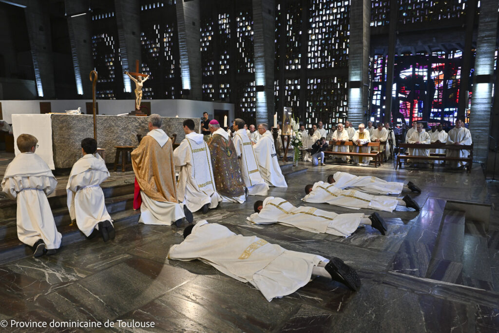
<path fill-rule="evenodd" d="M 158 141 L 146 135 L 131 156 L 140 189 L 152 200 L 178 203 L 172 140 L 160 147 Z"/>

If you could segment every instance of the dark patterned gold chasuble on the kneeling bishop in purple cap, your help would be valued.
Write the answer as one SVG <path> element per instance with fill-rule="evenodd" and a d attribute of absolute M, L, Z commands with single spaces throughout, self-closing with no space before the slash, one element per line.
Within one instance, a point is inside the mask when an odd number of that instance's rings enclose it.
<path fill-rule="evenodd" d="M 212 157 L 213 176 L 217 192 L 223 196 L 239 197 L 245 194 L 238 155 L 231 138 L 226 140 L 214 133 L 208 141 Z"/>

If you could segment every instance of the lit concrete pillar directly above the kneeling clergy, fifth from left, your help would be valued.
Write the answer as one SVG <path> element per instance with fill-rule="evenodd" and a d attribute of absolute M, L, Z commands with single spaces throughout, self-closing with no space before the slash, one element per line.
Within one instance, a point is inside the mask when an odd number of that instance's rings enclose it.
<path fill-rule="evenodd" d="M 256 123 L 271 123 L 274 111 L 275 0 L 253 0 L 252 6 Z"/>

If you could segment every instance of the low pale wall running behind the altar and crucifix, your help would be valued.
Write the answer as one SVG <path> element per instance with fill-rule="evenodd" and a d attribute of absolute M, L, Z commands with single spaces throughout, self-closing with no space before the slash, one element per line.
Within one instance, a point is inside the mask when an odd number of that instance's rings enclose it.
<path fill-rule="evenodd" d="M 41 100 L 0 100 L 2 107 L 3 119 L 9 124 L 12 123 L 11 115 L 16 113 L 40 113 Z M 81 107 L 82 113 L 85 113 L 86 102 L 91 102 L 91 99 L 78 100 L 43 100 L 50 102 L 53 112 L 64 112 L 64 110 L 74 110 Z M 188 99 L 151 99 L 145 100 L 151 102 L 152 113 L 158 113 L 164 117 L 184 117 L 184 118 L 201 118 L 203 112 L 208 112 L 211 116 L 214 110 L 229 110 L 229 121 L 234 119 L 234 104 L 203 102 Z M 128 113 L 133 109 L 133 100 L 98 100 L 99 114 L 117 115 Z M 212 118 L 210 116 L 210 118 Z"/>

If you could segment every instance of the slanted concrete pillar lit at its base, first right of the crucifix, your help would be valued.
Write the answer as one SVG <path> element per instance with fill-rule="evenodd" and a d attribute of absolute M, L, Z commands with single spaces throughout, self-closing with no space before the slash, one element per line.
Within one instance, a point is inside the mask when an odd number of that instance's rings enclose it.
<path fill-rule="evenodd" d="M 177 1 L 177 31 L 182 89 L 189 89 L 190 93 L 187 98 L 194 100 L 203 99 L 200 22 L 199 1 Z M 218 89 L 218 87 L 215 87 L 215 89 Z"/>

